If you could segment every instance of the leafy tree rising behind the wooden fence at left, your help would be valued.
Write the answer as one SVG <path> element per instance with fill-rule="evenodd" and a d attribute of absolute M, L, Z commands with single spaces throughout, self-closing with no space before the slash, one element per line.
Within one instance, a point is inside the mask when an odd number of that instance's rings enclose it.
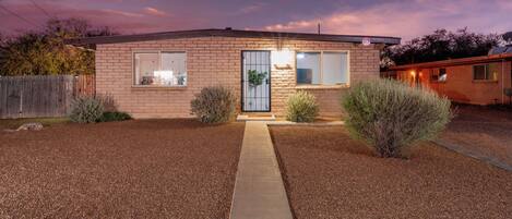
<path fill-rule="evenodd" d="M 93 74 L 94 51 L 67 46 L 64 40 L 115 34 L 85 20 L 50 20 L 41 32 L 0 39 L 0 75 Z"/>

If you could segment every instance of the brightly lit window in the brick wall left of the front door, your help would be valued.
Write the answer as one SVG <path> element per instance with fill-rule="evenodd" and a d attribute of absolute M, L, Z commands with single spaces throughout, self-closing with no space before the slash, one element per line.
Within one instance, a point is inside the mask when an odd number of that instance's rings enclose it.
<path fill-rule="evenodd" d="M 184 52 L 135 52 L 134 68 L 134 85 L 187 85 L 187 54 Z"/>

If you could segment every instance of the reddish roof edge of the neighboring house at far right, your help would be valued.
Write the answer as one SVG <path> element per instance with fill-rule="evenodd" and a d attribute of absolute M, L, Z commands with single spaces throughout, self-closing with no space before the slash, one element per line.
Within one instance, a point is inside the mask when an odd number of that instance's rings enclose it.
<path fill-rule="evenodd" d="M 391 66 L 390 70 L 410 70 L 410 69 L 427 69 L 427 68 L 439 68 L 439 66 L 453 66 L 453 65 L 463 65 L 463 64 L 476 64 L 483 62 L 493 62 L 500 60 L 512 60 L 512 53 L 502 53 L 502 54 L 489 54 L 481 57 L 469 57 L 462 59 L 449 59 L 434 62 L 422 62 L 416 64 L 404 64 Z"/>

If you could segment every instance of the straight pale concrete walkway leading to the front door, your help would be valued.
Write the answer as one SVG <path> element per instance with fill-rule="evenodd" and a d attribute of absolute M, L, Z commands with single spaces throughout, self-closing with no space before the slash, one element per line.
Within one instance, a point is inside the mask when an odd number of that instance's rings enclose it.
<path fill-rule="evenodd" d="M 246 122 L 229 218 L 293 218 L 266 122 Z"/>

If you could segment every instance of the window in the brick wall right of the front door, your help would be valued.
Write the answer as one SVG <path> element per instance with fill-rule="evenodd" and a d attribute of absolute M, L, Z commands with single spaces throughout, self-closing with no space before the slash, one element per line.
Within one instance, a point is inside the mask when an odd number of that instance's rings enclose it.
<path fill-rule="evenodd" d="M 336 85 L 347 83 L 347 52 L 297 52 L 297 84 Z"/>

